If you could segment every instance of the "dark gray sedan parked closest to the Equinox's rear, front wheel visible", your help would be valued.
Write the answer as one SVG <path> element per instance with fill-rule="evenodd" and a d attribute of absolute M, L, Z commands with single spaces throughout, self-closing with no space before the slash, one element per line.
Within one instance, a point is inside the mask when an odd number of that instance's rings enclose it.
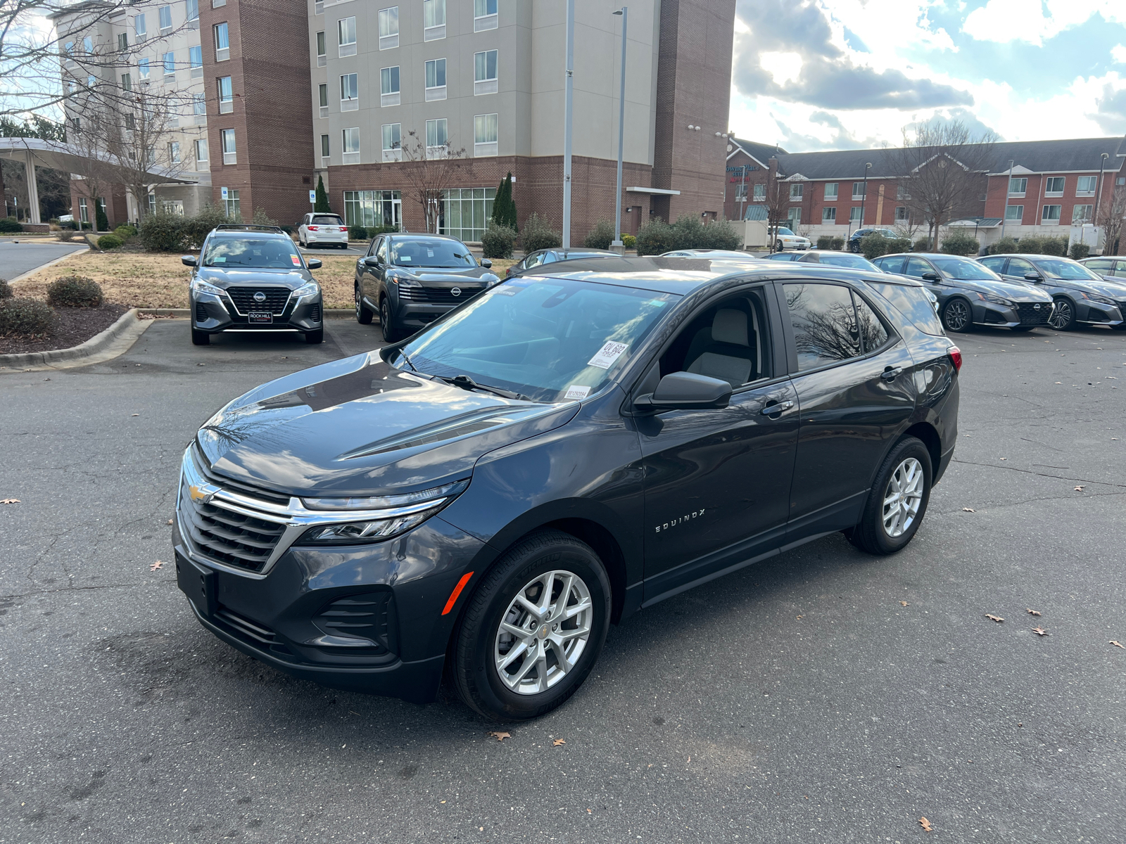
<path fill-rule="evenodd" d="M 1052 297 L 1027 284 L 1002 281 L 969 258 L 940 253 L 882 255 L 873 261 L 884 272 L 918 278 L 938 297 L 938 313 L 947 331 L 972 331 L 995 325 L 1031 331 L 1047 324 Z"/>

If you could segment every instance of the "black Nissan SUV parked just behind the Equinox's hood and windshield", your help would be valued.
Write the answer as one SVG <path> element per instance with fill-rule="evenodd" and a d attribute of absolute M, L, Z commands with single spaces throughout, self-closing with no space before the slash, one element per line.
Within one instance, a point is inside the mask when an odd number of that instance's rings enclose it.
<path fill-rule="evenodd" d="M 492 261 L 440 234 L 381 234 L 356 261 L 356 320 L 394 343 L 500 281 Z"/>

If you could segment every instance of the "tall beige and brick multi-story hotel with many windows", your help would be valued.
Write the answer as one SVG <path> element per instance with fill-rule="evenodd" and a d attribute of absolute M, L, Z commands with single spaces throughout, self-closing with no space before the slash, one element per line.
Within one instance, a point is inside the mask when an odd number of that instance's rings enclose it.
<path fill-rule="evenodd" d="M 348 223 L 421 231 L 409 169 L 427 155 L 454 159 L 441 231 L 480 240 L 509 172 L 520 222 L 537 212 L 557 226 L 565 0 L 394 1 L 84 2 L 57 16 L 61 34 L 92 42 L 68 53 L 64 78 L 80 97 L 81 52 L 118 50 L 129 56 L 129 84 L 144 69 L 146 84 L 181 95 L 168 143 L 178 144 L 185 183 L 155 186 L 153 207 L 191 214 L 225 201 L 245 219 L 261 208 L 295 223 L 321 177 Z M 614 216 L 619 132 L 623 231 L 650 216 L 724 210 L 734 0 L 629 3 L 624 126 L 617 8 L 575 0 L 578 241 Z M 111 217 L 135 216 L 119 203 Z"/>

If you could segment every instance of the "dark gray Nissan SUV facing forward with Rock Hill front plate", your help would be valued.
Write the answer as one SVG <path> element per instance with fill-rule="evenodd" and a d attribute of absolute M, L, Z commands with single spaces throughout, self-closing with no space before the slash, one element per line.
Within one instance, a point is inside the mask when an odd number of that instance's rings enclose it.
<path fill-rule="evenodd" d="M 307 261 L 277 226 L 221 225 L 212 230 L 191 267 L 188 308 L 191 342 L 207 345 L 223 331 L 297 332 L 305 342 L 324 340 L 321 286 Z"/>

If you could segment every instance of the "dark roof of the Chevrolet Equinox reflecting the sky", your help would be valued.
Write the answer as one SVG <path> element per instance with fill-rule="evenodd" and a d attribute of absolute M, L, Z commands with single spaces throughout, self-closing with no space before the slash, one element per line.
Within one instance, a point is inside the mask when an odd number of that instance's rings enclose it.
<path fill-rule="evenodd" d="M 783 264 L 775 261 L 760 261 L 754 258 L 749 259 L 745 263 L 732 259 L 712 260 L 708 258 L 615 258 L 616 260 L 614 258 L 599 258 L 589 262 L 583 259 L 568 261 L 565 270 L 558 263 L 540 264 L 521 275 L 517 280 L 527 281 L 538 276 L 686 295 L 727 278 L 767 281 L 776 278 L 801 280 L 803 276 L 807 276 L 810 280 L 863 281 L 866 280 L 865 276 L 872 277 L 874 275 L 870 270 L 852 270 L 823 263 L 790 262 Z M 921 281 L 914 279 L 893 279 L 883 273 L 875 280 L 879 284 L 891 282 L 904 287 L 924 287 Z"/>

